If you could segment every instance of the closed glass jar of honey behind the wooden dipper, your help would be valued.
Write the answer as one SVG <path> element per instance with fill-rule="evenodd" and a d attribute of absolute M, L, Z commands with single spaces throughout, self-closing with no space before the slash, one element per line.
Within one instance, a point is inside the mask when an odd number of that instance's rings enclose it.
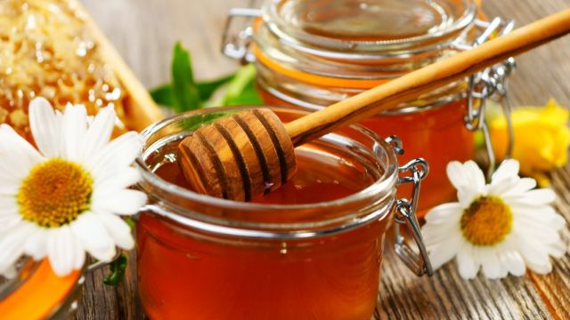
<path fill-rule="evenodd" d="M 319 109 L 512 28 L 477 14 L 474 0 L 267 0 L 260 10 L 230 12 L 223 52 L 256 63 L 265 104 Z M 481 79 L 446 85 L 361 123 L 399 136 L 403 159 L 428 160 L 420 209 L 452 200 L 446 164 L 474 157 L 479 125 L 466 127 L 465 119 L 481 105 L 474 100 L 486 85 Z"/>

